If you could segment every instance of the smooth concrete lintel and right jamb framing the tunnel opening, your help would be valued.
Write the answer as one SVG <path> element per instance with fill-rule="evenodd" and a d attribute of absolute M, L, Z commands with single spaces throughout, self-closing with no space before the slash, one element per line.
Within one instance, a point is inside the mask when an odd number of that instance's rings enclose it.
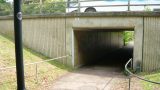
<path fill-rule="evenodd" d="M 143 17 L 80 17 L 75 18 L 73 30 L 87 29 L 132 29 L 135 33 L 133 67 L 141 67 L 143 42 Z M 72 39 L 71 39 L 72 40 Z M 71 46 L 71 45 L 70 45 Z M 73 60 L 72 60 L 73 61 Z M 139 64 L 140 63 L 140 64 Z"/>

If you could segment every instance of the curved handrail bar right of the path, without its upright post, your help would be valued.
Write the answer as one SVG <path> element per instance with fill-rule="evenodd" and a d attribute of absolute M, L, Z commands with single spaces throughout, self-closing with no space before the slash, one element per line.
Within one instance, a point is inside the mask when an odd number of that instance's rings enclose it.
<path fill-rule="evenodd" d="M 131 71 L 129 71 L 128 68 L 127 68 L 127 66 L 128 66 L 128 64 L 129 64 L 131 61 L 132 61 L 132 58 L 129 59 L 129 61 L 128 61 L 128 62 L 126 63 L 126 65 L 125 65 L 125 70 L 130 74 L 130 77 L 131 77 L 131 76 L 134 76 L 134 77 L 136 77 L 136 78 L 138 78 L 138 79 L 141 79 L 141 80 L 143 80 L 143 81 L 146 81 L 146 82 L 150 82 L 150 83 L 154 83 L 154 84 L 160 84 L 160 82 L 155 82 L 155 81 L 151 81 L 151 80 L 148 80 L 148 79 L 144 79 L 144 78 L 142 78 L 142 77 L 140 77 L 140 76 L 138 76 L 138 75 L 133 74 Z"/>

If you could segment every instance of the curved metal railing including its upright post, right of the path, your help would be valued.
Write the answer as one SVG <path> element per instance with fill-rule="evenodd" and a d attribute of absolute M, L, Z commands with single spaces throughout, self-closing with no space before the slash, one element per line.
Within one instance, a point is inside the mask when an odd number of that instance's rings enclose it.
<path fill-rule="evenodd" d="M 129 90 L 131 90 L 131 78 L 132 78 L 132 77 L 136 77 L 136 78 L 138 78 L 138 79 L 140 79 L 140 80 L 143 80 L 143 81 L 145 81 L 145 82 L 149 82 L 149 83 L 153 83 L 153 84 L 158 84 L 158 85 L 160 85 L 160 82 L 151 81 L 151 80 L 145 79 L 145 78 L 143 78 L 143 77 L 140 77 L 140 76 L 138 76 L 138 75 L 136 75 L 136 74 L 133 74 L 133 73 L 128 69 L 129 63 L 131 63 L 131 65 L 132 65 L 132 58 L 131 58 L 131 59 L 126 63 L 126 65 L 125 65 L 125 71 L 129 74 L 129 82 L 128 82 L 128 89 L 129 89 Z"/>

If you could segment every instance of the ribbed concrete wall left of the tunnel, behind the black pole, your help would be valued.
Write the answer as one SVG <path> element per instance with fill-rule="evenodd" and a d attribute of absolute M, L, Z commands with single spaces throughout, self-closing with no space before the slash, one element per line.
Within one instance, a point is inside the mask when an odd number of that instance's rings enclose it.
<path fill-rule="evenodd" d="M 28 48 L 48 57 L 66 55 L 66 29 L 64 18 L 24 18 L 23 43 Z M 13 20 L 0 20 L 0 32 L 13 38 Z M 67 64 L 62 59 L 62 63 Z"/>

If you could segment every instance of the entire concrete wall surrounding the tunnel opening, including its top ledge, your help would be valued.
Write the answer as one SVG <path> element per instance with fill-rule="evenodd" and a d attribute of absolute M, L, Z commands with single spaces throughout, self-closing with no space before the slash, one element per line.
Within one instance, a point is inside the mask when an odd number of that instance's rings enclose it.
<path fill-rule="evenodd" d="M 150 71 L 159 68 L 159 16 L 159 13 L 150 12 L 26 16 L 23 18 L 23 42 L 46 56 L 58 57 L 73 54 L 74 30 L 133 29 L 134 68 L 140 65 L 144 71 Z M 0 17 L 0 32 L 13 37 L 12 17 Z M 61 62 L 73 65 L 74 57 Z"/>

